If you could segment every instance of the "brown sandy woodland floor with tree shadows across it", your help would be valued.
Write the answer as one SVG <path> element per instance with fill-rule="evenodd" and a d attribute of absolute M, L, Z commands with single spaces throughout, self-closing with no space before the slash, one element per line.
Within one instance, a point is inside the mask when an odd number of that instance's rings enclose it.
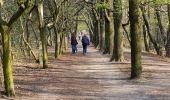
<path fill-rule="evenodd" d="M 80 47 L 77 54 L 68 49 L 58 60 L 48 51 L 48 69 L 14 64 L 16 100 L 170 100 L 170 63 L 164 58 L 143 53 L 143 78 L 130 80 L 128 51 L 124 63 L 109 62 L 94 47 L 87 56 Z"/>

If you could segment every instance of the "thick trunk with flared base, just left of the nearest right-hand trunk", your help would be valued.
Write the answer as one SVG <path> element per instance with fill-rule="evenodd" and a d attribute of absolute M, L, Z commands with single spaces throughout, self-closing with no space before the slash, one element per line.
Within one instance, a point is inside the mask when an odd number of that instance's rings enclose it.
<path fill-rule="evenodd" d="M 114 49 L 111 61 L 123 61 L 123 34 L 121 32 L 122 26 L 122 0 L 114 0 Z"/>

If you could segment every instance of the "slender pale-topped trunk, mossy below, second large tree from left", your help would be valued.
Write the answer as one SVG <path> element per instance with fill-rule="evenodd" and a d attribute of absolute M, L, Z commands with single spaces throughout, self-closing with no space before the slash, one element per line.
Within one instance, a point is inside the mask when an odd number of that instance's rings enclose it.
<path fill-rule="evenodd" d="M 39 30 L 42 42 L 43 68 L 48 68 L 47 41 L 43 21 L 43 0 L 38 4 Z"/>

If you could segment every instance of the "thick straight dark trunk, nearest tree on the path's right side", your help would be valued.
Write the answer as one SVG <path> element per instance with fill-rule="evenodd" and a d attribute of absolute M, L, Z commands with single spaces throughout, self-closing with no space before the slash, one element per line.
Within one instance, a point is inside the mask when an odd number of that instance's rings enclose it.
<path fill-rule="evenodd" d="M 141 25 L 140 25 L 140 0 L 129 0 L 129 18 L 131 32 L 131 78 L 140 78 L 142 73 L 141 63 Z"/>

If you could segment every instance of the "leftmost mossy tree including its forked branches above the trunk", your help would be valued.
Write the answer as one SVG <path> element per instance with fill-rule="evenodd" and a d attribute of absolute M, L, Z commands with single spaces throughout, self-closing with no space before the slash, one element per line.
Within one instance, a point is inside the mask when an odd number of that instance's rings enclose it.
<path fill-rule="evenodd" d="M 2 34 L 2 47 L 3 47 L 3 74 L 5 93 L 8 97 L 15 96 L 13 78 L 12 78 L 12 60 L 10 51 L 10 30 L 16 20 L 23 14 L 23 12 L 30 6 L 32 0 L 23 2 L 18 11 L 12 15 L 8 22 L 3 21 L 0 10 L 0 33 Z M 2 7 L 3 0 L 0 1 L 0 8 Z"/>

